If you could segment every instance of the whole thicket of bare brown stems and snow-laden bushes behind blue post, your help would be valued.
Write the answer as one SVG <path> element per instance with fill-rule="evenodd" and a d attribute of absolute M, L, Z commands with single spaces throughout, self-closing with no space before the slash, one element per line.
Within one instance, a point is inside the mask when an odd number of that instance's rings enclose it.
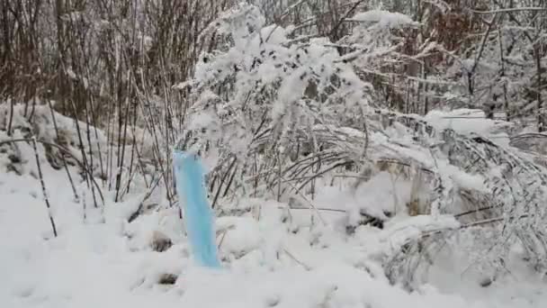
<path fill-rule="evenodd" d="M 212 158 L 213 207 L 242 196 L 308 206 L 318 178 L 357 187 L 396 165 L 413 183 L 408 213 L 496 225 L 476 241 L 489 243 L 489 261 L 520 241 L 538 268 L 546 67 L 543 0 L 0 2 L 2 137 L 57 144 L 50 163 L 77 163 L 94 196 L 120 201 L 143 185 L 175 204 L 178 142 Z M 62 127 L 50 108 L 67 116 Z M 510 141 L 424 117 L 459 108 L 502 120 L 489 132 Z M 417 267 L 408 256 L 449 234 L 409 240 L 388 272 Z"/>

